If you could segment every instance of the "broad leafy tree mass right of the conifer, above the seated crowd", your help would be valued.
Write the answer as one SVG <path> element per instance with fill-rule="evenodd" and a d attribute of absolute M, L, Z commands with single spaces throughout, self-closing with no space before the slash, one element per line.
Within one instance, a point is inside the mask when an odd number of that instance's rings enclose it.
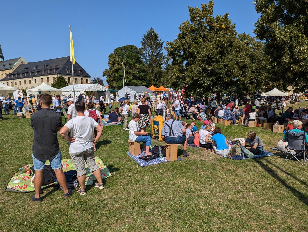
<path fill-rule="evenodd" d="M 167 43 L 170 84 L 210 96 L 215 91 L 234 93 L 232 79 L 237 78 L 240 95 L 254 92 L 264 79 L 262 43 L 246 34 L 237 37 L 228 13 L 214 17 L 213 6 L 213 1 L 201 9 L 188 6 L 190 21 L 183 22 L 177 38 Z"/>

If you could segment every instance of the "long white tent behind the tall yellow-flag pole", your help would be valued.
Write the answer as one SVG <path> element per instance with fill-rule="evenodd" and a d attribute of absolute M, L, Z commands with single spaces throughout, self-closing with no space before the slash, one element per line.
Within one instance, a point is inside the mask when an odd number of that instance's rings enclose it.
<path fill-rule="evenodd" d="M 66 86 L 61 89 L 62 95 L 74 95 L 73 85 Z M 99 100 L 99 96 L 103 94 L 106 97 L 106 102 L 109 102 L 110 92 L 109 89 L 100 84 L 75 84 L 75 95 L 78 96 L 79 93 L 94 91 L 95 100 Z"/>

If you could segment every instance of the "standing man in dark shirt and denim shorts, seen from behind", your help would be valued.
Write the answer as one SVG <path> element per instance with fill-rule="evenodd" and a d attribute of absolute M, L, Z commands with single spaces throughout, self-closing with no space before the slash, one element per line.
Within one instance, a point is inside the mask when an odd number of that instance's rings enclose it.
<path fill-rule="evenodd" d="M 34 202 L 42 201 L 39 194 L 43 182 L 43 170 L 47 160 L 50 161 L 57 181 L 64 190 L 64 198 L 74 193 L 74 190 L 67 188 L 65 175 L 62 171 L 62 155 L 57 137 L 57 132 L 63 127 L 62 118 L 61 115 L 51 111 L 50 104 L 51 95 L 42 94 L 40 98 L 42 109 L 31 116 L 30 125 L 34 130 L 32 157 L 35 170 L 35 195 L 31 197 L 31 201 Z M 69 139 L 70 142 L 74 142 L 74 140 L 74 138 Z"/>

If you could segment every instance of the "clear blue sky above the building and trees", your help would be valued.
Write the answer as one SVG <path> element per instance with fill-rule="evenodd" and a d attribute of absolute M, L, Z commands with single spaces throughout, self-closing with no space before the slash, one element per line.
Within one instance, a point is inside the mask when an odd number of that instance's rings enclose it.
<path fill-rule="evenodd" d="M 252 36 L 259 15 L 253 0 L 216 0 L 215 15 L 229 12 L 238 33 Z M 153 27 L 163 41 L 172 41 L 189 19 L 188 5 L 208 1 L 1 1 L 0 43 L 4 59 L 27 62 L 69 56 L 71 25 L 76 61 L 93 77 L 108 68 L 108 55 L 117 47 L 140 47 Z M 5 32 L 5 34 L 3 33 Z"/>

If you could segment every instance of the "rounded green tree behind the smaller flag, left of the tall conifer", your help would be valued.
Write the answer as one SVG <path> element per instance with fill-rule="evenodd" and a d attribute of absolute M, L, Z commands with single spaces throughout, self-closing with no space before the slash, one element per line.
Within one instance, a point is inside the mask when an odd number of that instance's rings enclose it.
<path fill-rule="evenodd" d="M 144 62 L 140 57 L 139 48 L 126 45 L 115 48 L 108 56 L 109 68 L 103 71 L 103 76 L 106 77 L 109 88 L 123 88 L 122 62 L 126 75 L 124 86 L 148 86 L 149 81 L 144 77 Z"/>

